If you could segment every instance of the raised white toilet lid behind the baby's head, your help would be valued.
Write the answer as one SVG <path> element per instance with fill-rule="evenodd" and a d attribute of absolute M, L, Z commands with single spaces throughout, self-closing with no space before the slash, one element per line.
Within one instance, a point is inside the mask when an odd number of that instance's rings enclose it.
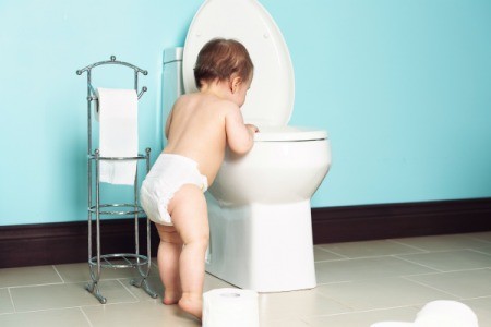
<path fill-rule="evenodd" d="M 203 3 L 185 38 L 184 90 L 196 90 L 193 69 L 197 53 L 216 37 L 242 43 L 254 64 L 254 77 L 242 107 L 244 121 L 258 125 L 286 125 L 294 110 L 294 68 L 279 28 L 256 0 L 206 0 Z"/>

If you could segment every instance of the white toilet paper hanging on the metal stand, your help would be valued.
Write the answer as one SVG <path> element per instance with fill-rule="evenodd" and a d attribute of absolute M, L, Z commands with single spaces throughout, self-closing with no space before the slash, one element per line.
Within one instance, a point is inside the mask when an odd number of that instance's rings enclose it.
<path fill-rule="evenodd" d="M 139 152 L 137 95 L 134 89 L 97 88 L 101 157 L 135 157 Z M 136 160 L 100 161 L 100 181 L 133 185 Z"/>

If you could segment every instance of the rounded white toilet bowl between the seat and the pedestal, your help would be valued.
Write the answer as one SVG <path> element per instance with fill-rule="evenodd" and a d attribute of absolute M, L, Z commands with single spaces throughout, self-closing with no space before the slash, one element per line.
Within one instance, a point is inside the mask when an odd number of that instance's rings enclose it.
<path fill-rule="evenodd" d="M 246 156 L 226 154 L 209 192 L 221 205 L 309 201 L 330 165 L 327 140 L 255 142 Z"/>

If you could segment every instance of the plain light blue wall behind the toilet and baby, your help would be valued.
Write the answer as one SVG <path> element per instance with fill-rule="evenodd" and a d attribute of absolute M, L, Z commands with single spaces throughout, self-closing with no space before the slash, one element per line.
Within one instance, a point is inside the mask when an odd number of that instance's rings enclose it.
<path fill-rule="evenodd" d="M 86 219 L 77 69 L 116 55 L 148 70 L 140 144 L 159 147 L 161 50 L 201 2 L 0 1 L 0 225 Z M 333 144 L 313 206 L 491 196 L 491 1 L 262 3 L 296 69 L 291 124 Z"/>

